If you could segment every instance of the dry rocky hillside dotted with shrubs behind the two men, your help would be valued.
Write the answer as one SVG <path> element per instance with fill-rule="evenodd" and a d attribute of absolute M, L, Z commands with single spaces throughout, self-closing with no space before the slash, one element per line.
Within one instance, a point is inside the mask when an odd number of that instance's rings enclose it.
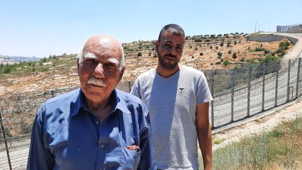
<path fill-rule="evenodd" d="M 282 40 L 288 44 L 280 50 L 280 41 L 257 43 L 247 41 L 246 37 L 247 34 L 187 36 L 180 63 L 201 70 L 232 69 L 280 59 L 292 48 L 287 40 Z M 154 42 L 123 43 L 126 70 L 122 81 L 135 80 L 139 74 L 156 66 Z M 9 71 L 1 65 L 0 94 L 78 86 L 75 58 L 75 54 L 52 56 L 40 62 L 14 64 Z"/>

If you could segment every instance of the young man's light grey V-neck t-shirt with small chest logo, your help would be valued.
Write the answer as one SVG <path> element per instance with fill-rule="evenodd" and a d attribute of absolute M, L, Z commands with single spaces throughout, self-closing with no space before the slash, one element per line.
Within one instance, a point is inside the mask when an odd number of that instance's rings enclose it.
<path fill-rule="evenodd" d="M 138 76 L 131 94 L 150 112 L 159 169 L 199 169 L 196 106 L 213 100 L 204 74 L 189 66 L 168 78 L 155 69 Z"/>

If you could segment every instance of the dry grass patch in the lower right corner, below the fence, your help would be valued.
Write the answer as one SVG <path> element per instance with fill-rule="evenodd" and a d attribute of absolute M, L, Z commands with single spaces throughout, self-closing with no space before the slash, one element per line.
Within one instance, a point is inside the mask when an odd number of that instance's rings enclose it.
<path fill-rule="evenodd" d="M 214 169 L 301 169 L 301 160 L 302 118 L 213 153 Z"/>

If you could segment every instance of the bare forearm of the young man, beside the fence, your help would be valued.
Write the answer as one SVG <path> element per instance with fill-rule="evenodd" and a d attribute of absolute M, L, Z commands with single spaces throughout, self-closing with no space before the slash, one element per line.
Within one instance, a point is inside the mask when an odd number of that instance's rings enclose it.
<path fill-rule="evenodd" d="M 213 169 L 212 134 L 208 116 L 209 102 L 196 106 L 196 128 L 204 169 Z"/>

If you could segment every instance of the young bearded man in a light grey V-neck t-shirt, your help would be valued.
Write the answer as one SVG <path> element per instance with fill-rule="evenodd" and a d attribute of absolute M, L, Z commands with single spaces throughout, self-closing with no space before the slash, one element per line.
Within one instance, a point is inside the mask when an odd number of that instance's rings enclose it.
<path fill-rule="evenodd" d="M 150 112 L 158 169 L 199 169 L 197 140 L 203 166 L 212 169 L 212 136 L 208 117 L 210 94 L 201 71 L 179 64 L 185 32 L 168 24 L 155 43 L 157 67 L 138 76 L 131 94 Z"/>

